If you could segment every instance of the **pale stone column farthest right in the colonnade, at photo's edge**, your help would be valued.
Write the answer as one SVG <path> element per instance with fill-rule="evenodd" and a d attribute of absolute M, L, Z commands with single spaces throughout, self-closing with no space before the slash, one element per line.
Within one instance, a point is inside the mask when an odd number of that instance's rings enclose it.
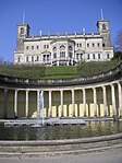
<path fill-rule="evenodd" d="M 122 116 L 122 88 L 120 83 L 118 83 L 118 90 L 119 90 L 119 115 Z"/>

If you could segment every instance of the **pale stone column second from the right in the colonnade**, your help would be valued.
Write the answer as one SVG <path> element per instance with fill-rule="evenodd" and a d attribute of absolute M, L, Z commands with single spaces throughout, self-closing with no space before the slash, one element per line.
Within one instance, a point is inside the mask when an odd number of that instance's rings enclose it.
<path fill-rule="evenodd" d="M 112 112 L 113 112 L 113 116 L 117 115 L 117 110 L 115 110 L 115 94 L 114 94 L 114 85 L 111 84 L 111 96 L 112 96 Z"/>

